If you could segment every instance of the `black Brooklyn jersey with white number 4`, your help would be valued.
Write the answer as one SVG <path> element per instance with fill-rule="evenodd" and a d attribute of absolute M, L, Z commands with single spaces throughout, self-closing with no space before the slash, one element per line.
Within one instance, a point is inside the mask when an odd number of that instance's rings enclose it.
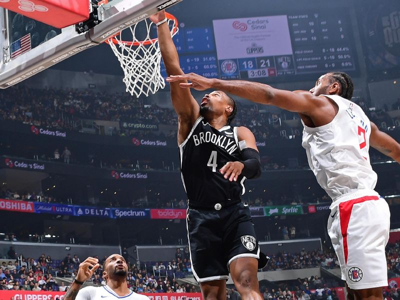
<path fill-rule="evenodd" d="M 245 191 L 245 177 L 237 181 L 225 179 L 219 169 L 228 161 L 240 160 L 237 127 L 224 126 L 219 130 L 200 116 L 187 138 L 179 145 L 183 186 L 190 204 L 204 208 L 222 207 L 240 201 Z"/>

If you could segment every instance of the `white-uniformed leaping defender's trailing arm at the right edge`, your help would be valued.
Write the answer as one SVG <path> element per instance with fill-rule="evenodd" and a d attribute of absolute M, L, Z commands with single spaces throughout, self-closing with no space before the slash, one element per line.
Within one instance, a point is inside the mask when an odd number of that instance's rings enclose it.
<path fill-rule="evenodd" d="M 393 158 L 400 163 L 400 144 L 390 135 L 382 132 L 371 122 L 370 145 L 379 152 Z"/>

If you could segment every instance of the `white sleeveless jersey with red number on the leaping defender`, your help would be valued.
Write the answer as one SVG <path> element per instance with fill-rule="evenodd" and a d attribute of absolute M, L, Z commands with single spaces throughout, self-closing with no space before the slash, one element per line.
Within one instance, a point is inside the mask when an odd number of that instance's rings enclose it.
<path fill-rule="evenodd" d="M 338 106 L 333 120 L 311 128 L 302 122 L 302 146 L 319 185 L 335 201 L 338 197 L 373 190 L 377 176 L 369 161 L 368 117 L 357 104 L 338 95 L 324 95 Z"/>

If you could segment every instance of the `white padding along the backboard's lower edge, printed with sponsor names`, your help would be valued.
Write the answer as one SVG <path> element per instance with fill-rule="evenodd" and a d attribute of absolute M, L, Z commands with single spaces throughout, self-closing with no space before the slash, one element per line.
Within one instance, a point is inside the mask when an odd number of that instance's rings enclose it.
<path fill-rule="evenodd" d="M 21 82 L 80 51 L 102 43 L 120 30 L 180 1 L 110 1 L 108 6 L 99 7 L 98 12 L 101 22 L 89 31 L 77 33 L 75 26 L 62 28 L 61 33 L 58 35 L 13 59 L 9 59 L 7 12 L 5 9 L 1 9 L 1 26 L 5 30 L 0 32 L 0 44 L 2 43 L 5 55 L 2 57 L 3 63 L 0 66 L 0 88 L 6 88 Z"/>

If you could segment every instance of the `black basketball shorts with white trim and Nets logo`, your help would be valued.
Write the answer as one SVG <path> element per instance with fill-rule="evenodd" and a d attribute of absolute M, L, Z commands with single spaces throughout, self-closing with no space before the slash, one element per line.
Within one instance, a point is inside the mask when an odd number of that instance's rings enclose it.
<path fill-rule="evenodd" d="M 188 208 L 187 236 L 197 282 L 228 279 L 229 264 L 239 257 L 259 258 L 259 246 L 246 203 L 220 210 Z"/>

